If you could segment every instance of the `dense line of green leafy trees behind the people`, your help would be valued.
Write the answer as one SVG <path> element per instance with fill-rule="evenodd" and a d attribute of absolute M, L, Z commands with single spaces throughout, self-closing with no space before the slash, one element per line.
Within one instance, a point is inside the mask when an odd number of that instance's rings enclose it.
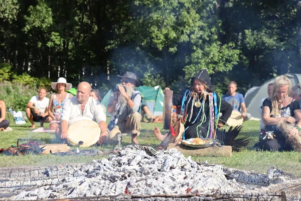
<path fill-rule="evenodd" d="M 208 68 L 217 91 L 235 80 L 243 92 L 300 72 L 300 8 L 292 0 L 0 0 L 0 67 L 101 89 L 131 71 L 174 90 Z"/>

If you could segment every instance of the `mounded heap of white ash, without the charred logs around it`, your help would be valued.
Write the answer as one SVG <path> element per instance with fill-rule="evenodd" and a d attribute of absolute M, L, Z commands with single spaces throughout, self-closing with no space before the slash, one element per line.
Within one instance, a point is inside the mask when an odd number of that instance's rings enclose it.
<path fill-rule="evenodd" d="M 257 187 L 257 186 L 256 186 Z M 222 165 L 198 165 L 176 149 L 154 156 L 127 146 L 108 159 L 80 167 L 56 185 L 22 191 L 13 199 L 73 198 L 136 194 L 196 194 L 252 190 L 254 185 L 228 180 Z"/>

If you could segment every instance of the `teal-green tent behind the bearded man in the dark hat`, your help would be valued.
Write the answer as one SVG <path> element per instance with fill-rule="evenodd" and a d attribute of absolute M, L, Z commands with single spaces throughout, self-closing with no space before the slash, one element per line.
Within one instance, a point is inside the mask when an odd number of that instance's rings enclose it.
<path fill-rule="evenodd" d="M 137 89 L 141 92 L 143 100 L 142 104 L 146 102 L 146 106 L 154 116 L 163 114 L 164 94 L 160 86 L 139 86 Z M 101 103 L 107 107 L 109 102 L 111 90 L 102 98 Z M 109 116 L 110 114 L 107 113 Z"/>

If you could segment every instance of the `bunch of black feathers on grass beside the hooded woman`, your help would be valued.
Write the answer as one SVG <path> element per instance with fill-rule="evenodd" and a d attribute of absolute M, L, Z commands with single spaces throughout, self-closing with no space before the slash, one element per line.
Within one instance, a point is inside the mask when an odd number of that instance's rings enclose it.
<path fill-rule="evenodd" d="M 228 131 L 226 131 L 226 129 L 217 129 L 216 138 L 223 145 L 232 146 L 232 150 L 238 152 L 242 147 L 250 143 L 250 137 L 247 136 L 236 139 L 241 130 L 242 125 L 236 126 L 234 129 L 231 126 Z"/>

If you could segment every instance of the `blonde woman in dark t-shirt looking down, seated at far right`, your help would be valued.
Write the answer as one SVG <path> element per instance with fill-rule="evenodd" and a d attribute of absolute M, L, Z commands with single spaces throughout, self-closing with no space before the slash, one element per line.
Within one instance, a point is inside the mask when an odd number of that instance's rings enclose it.
<path fill-rule="evenodd" d="M 261 139 L 259 149 L 268 151 L 290 151 L 292 147 L 286 143 L 286 138 L 277 127 L 281 121 L 293 124 L 298 120 L 296 126 L 292 128 L 288 135 L 296 135 L 301 127 L 301 110 L 298 102 L 288 96 L 290 90 L 290 80 L 284 76 L 275 78 L 272 97 L 266 98 L 262 104 L 262 120 L 266 125 L 266 131 L 273 131 L 273 139 Z M 295 119 L 296 118 L 296 119 Z"/>

